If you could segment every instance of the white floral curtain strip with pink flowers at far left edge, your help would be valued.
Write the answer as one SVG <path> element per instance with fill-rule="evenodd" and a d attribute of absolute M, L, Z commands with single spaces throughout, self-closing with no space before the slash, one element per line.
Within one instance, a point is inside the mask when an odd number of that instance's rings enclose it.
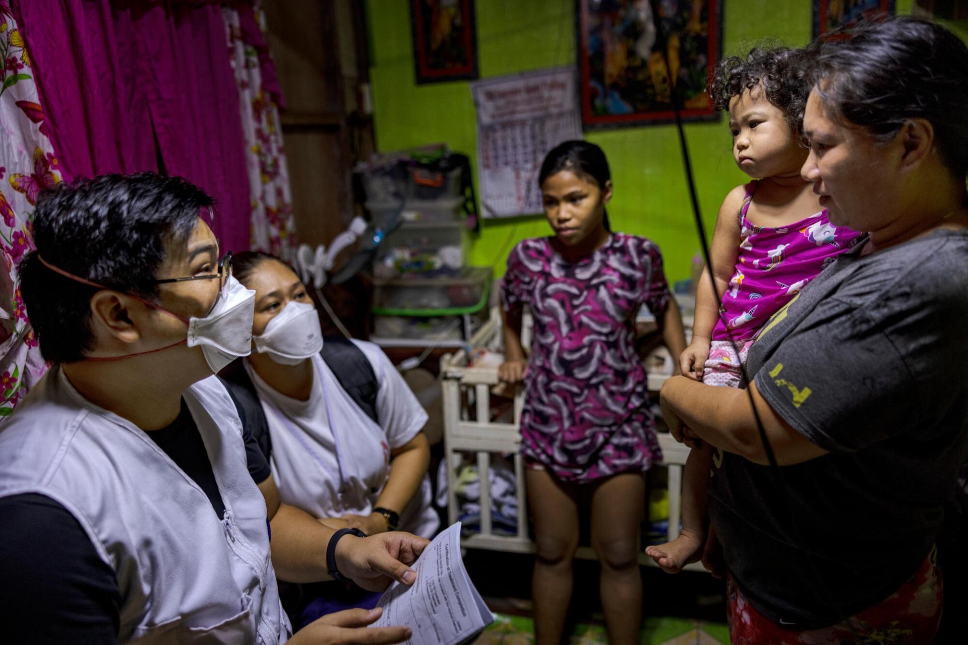
<path fill-rule="evenodd" d="M 17 263 L 34 248 L 31 222 L 37 194 L 61 181 L 47 136 L 34 71 L 10 3 L 0 0 L 0 418 L 44 375 L 46 364 L 30 327 Z"/>

